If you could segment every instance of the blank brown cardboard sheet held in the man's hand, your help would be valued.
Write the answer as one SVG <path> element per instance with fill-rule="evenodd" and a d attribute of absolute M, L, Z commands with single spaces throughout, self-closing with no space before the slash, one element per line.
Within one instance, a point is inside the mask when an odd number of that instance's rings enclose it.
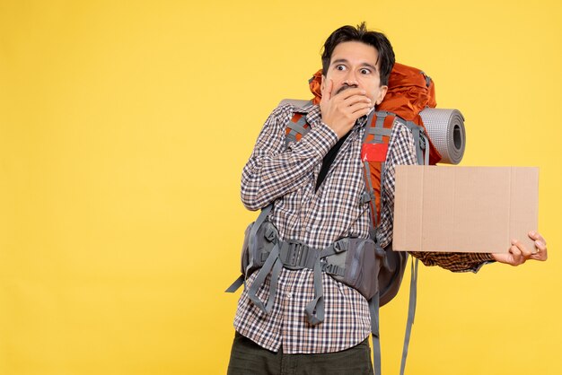
<path fill-rule="evenodd" d="M 538 211 L 538 168 L 400 165 L 392 248 L 502 253 L 517 239 L 534 249 Z"/>

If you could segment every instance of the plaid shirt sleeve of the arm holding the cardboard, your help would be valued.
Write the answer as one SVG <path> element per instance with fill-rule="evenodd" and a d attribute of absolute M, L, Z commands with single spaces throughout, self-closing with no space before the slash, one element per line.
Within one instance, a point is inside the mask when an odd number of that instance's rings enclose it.
<path fill-rule="evenodd" d="M 386 175 L 383 181 L 383 204 L 388 206 L 386 215 L 382 217 L 381 226 L 390 233 L 382 241 L 383 247 L 391 242 L 392 221 L 394 216 L 394 188 L 396 186 L 395 167 L 397 165 L 417 165 L 414 137 L 407 126 L 395 124 L 389 154 L 386 161 Z M 385 241 L 384 241 L 385 240 Z M 386 243 L 385 243 L 386 242 Z M 426 266 L 440 266 L 452 272 L 478 272 L 480 267 L 493 262 L 494 258 L 487 253 L 454 253 L 454 252 L 409 252 Z"/>

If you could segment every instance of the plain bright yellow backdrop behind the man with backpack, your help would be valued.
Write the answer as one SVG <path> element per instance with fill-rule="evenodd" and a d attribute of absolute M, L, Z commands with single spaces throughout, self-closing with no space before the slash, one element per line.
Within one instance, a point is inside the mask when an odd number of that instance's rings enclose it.
<path fill-rule="evenodd" d="M 361 21 L 461 109 L 463 165 L 540 167 L 549 261 L 421 268 L 408 374 L 561 373 L 561 20 L 558 0 L 0 1 L 0 374 L 224 373 L 241 168 Z"/>

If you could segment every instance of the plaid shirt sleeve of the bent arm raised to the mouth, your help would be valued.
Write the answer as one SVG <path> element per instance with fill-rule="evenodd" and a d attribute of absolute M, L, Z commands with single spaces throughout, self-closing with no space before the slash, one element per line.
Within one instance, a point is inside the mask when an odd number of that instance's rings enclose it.
<path fill-rule="evenodd" d="M 314 166 L 338 142 L 338 135 L 319 122 L 299 142 L 285 148 L 285 127 L 293 116 L 291 108 L 281 106 L 269 115 L 242 170 L 241 201 L 249 210 L 263 208 L 300 188 Z"/>

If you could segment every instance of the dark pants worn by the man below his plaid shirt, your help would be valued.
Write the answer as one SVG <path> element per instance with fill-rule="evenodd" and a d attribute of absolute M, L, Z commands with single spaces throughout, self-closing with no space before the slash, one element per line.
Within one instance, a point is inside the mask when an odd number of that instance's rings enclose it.
<path fill-rule="evenodd" d="M 372 375 L 369 339 L 336 353 L 285 354 L 254 343 L 236 332 L 228 375 Z"/>

